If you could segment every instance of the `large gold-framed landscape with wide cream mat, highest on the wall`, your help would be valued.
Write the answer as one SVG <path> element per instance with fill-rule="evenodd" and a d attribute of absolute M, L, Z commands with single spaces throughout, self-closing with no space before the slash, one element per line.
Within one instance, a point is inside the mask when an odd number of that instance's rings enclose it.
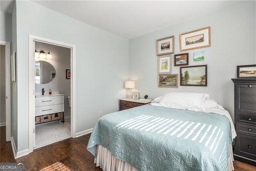
<path fill-rule="evenodd" d="M 180 34 L 180 51 L 211 46 L 211 27 Z"/>

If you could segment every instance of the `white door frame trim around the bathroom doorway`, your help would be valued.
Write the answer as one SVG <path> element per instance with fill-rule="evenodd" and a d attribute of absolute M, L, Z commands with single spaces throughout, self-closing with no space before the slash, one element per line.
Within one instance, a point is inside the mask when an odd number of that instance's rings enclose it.
<path fill-rule="evenodd" d="M 41 38 L 38 36 L 29 35 L 28 41 L 28 72 L 29 72 L 29 97 L 28 97 L 28 121 L 29 121 L 29 153 L 33 151 L 34 133 L 35 127 L 35 77 L 34 77 L 34 48 L 33 42 L 43 42 L 56 46 L 62 46 L 70 49 L 70 70 L 71 70 L 71 137 L 76 137 L 76 46 L 55 40 Z M 35 130 L 34 130 L 35 131 Z"/>

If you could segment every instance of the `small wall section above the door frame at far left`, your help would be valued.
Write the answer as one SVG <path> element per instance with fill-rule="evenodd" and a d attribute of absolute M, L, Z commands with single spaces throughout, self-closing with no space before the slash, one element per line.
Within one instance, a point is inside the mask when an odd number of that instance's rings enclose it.
<path fill-rule="evenodd" d="M 12 42 L 12 15 L 0 12 L 0 40 Z"/>

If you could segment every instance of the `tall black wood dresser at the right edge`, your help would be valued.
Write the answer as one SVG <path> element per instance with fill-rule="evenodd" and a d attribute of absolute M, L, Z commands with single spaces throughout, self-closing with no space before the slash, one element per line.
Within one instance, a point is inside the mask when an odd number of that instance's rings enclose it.
<path fill-rule="evenodd" d="M 256 165 L 256 79 L 234 78 L 234 159 Z"/>

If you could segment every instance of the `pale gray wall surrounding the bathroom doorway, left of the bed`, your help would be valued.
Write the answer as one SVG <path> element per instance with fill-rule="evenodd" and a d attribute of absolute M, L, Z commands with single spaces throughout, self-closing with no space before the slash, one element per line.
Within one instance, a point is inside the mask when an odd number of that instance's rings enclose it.
<path fill-rule="evenodd" d="M 76 132 L 118 111 L 128 79 L 128 40 L 31 1 L 17 4 L 18 151 L 28 149 L 28 35 L 76 45 Z M 35 22 L 38 21 L 38 22 Z M 61 90 L 60 90 L 61 91 Z"/>

